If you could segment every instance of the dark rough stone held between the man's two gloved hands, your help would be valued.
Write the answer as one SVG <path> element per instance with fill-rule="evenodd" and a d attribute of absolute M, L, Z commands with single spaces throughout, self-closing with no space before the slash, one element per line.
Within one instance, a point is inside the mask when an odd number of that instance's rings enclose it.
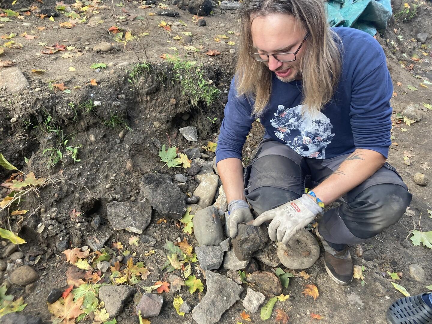
<path fill-rule="evenodd" d="M 238 260 L 249 260 L 255 251 L 264 248 L 269 237 L 265 225 L 240 224 L 238 233 L 232 239 L 232 248 Z"/>

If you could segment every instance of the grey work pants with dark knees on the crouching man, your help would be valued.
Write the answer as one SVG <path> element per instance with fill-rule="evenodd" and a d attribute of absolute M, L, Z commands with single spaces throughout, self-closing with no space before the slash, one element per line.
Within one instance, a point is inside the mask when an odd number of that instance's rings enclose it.
<path fill-rule="evenodd" d="M 245 196 L 259 215 L 299 198 L 334 172 L 349 154 L 332 159 L 300 156 L 289 146 L 263 140 L 245 168 Z M 411 202 L 407 186 L 387 162 L 375 174 L 344 194 L 340 206 L 327 210 L 320 220 L 320 234 L 342 250 L 361 243 L 396 223 Z"/>

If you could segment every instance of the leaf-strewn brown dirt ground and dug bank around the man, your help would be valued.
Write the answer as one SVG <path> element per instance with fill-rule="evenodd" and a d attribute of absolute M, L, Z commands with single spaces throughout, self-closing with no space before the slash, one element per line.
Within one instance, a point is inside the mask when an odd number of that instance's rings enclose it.
<path fill-rule="evenodd" d="M 70 6 L 73 1 L 64 3 Z M 229 89 L 235 64 L 232 49 L 235 50 L 237 45 L 228 44 L 229 41 L 236 41 L 237 37 L 233 10 L 221 10 L 216 6 L 213 13 L 204 18 L 206 26 L 201 27 L 193 21 L 197 17 L 187 10 L 178 9 L 169 1 L 157 1 L 156 5 L 147 8 L 144 2 L 139 1 L 83 3 L 89 8 L 87 15 L 81 11 L 80 18 L 72 21 L 64 14 L 67 10 L 60 10 L 53 17 L 54 22 L 49 20 L 51 11 L 57 5 L 53 0 L 43 3 L 22 1 L 14 5 L 6 1 L 1 6 L 3 9 L 19 10 L 25 7 L 30 10 L 29 15 L 25 14 L 27 10 L 21 11 L 23 19 L 10 17 L 10 21 L 0 21 L 0 35 L 16 34 L 11 39 L 22 44 L 19 49 L 6 47 L 0 60 L 13 61 L 14 67 L 19 68 L 29 81 L 31 89 L 14 95 L 8 89 L 0 89 L 0 152 L 20 170 L 52 180 L 37 194 L 30 193 L 20 203 L 20 209 L 29 210 L 24 216 L 9 216 L 6 211 L 0 214 L 2 228 L 11 226 L 16 231 L 21 229 L 20 236 L 25 238 L 27 244 L 20 245 L 20 250 L 25 255 L 28 256 L 32 248 L 44 248 L 38 264 L 33 265 L 40 276 L 33 289 L 12 285 L 8 292 L 16 297 L 23 295 L 28 305 L 22 313 L 41 316 L 45 323 L 51 323 L 46 305 L 48 293 L 52 288 L 67 287 L 65 273 L 68 263 L 62 250 L 59 250 L 59 242 L 67 240 L 70 242 L 68 248 L 82 247 L 87 245 L 87 238 L 110 236 L 106 246 L 123 242 L 125 248 L 131 248 L 128 242 L 133 234 L 124 230 L 113 231 L 106 218 L 106 204 L 114 200 L 136 200 L 140 178 L 146 173 L 174 175 L 180 172 L 179 168 L 162 168 L 163 162 L 158 157 L 162 144 L 176 146 L 182 152 L 184 148 L 201 148 L 208 141 L 217 140 L 227 100 L 226 90 Z M 401 2 L 392 3 L 394 13 L 404 8 Z M 416 15 L 407 21 L 403 18 L 395 21 L 393 18 L 387 32 L 381 37 L 377 35 L 377 39 L 387 54 L 395 91 L 391 102 L 394 108 L 393 144 L 388 161 L 413 194 L 410 209 L 397 224 L 361 245 L 364 251 L 375 252 L 375 260 L 367 261 L 356 256 L 356 246 L 351 247 L 354 264 L 365 266 L 364 286 L 357 280 L 349 286 L 339 286 L 331 281 L 324 269 L 322 251 L 316 264 L 307 269 L 311 275 L 307 280 L 292 278 L 289 287 L 283 289 L 283 293 L 289 294 L 290 298 L 275 306 L 285 309 L 290 317 L 289 323 L 312 323 L 317 320 L 310 314 L 315 313 L 324 316 L 321 323 L 384 324 L 388 305 L 402 297 L 391 285 L 395 280 L 389 278 L 387 271 L 402 273 L 397 283 L 411 295 L 425 292 L 425 286 L 432 284 L 432 251 L 414 246 L 408 239 L 414 229 L 424 232 L 432 230 L 432 218 L 427 213 L 427 210 L 432 210 L 429 198 L 432 195 L 431 184 L 419 186 L 413 180 L 416 172 L 422 172 L 429 178 L 432 176 L 428 166 L 429 163 L 432 167 L 432 111 L 423 105 L 432 104 L 432 85 L 425 83 L 425 80 L 432 82 L 432 7 L 430 1 L 409 4 L 412 7 L 419 4 Z M 151 14 L 166 7 L 178 11 L 180 16 Z M 41 19 L 36 16 L 39 11 L 48 13 L 48 16 Z M 83 19 L 85 16 L 86 19 Z M 165 24 L 161 21 L 166 22 L 169 28 L 164 28 Z M 60 27 L 61 22 L 71 22 L 73 28 Z M 117 29 L 110 32 L 113 26 Z M 120 39 L 118 33 L 113 31 L 123 32 L 123 38 Z M 24 32 L 35 37 L 19 36 Z M 191 42 L 182 44 L 188 38 L 184 33 L 188 32 L 191 33 Z M 419 32 L 429 33 L 426 44 L 416 41 Z M 182 38 L 176 40 L 177 35 Z M 221 35 L 229 39 L 221 38 Z M 123 41 L 125 37 L 129 37 L 128 41 Z M 6 43 L 11 39 L 2 41 Z M 103 41 L 112 43 L 113 49 L 108 52 L 93 51 L 94 46 Z M 67 48 L 53 54 L 41 54 L 41 51 L 53 51 L 47 47 L 55 44 L 63 44 Z M 209 56 L 205 54 L 208 50 L 217 50 L 221 54 Z M 179 65 L 176 64 L 186 61 L 196 61 L 196 66 L 202 64 L 197 73 L 194 70 L 194 77 L 204 80 L 206 89 L 220 90 L 209 105 L 202 101 L 194 105 L 194 93 L 184 92 L 179 76 L 186 76 L 187 71 L 184 68 L 178 70 Z M 107 67 L 90 68 L 92 64 L 101 63 L 107 64 Z M 136 64 L 141 65 L 137 68 Z M 0 67 L 0 73 L 9 68 Z M 70 91 L 64 92 L 53 86 L 61 83 Z M 417 90 L 413 91 L 412 87 Z M 86 103 L 90 101 L 92 105 L 89 110 Z M 401 117 L 402 111 L 409 105 L 418 107 L 417 112 L 422 114 L 422 119 L 410 126 Z M 12 118 L 17 121 L 11 122 Z M 178 128 L 185 126 L 197 127 L 197 143 L 191 145 L 178 133 Z M 253 137 L 249 137 L 243 151 L 246 164 L 253 157 L 254 148 L 263 134 L 258 122 L 254 123 L 251 133 Z M 94 141 L 90 140 L 91 135 Z M 59 138 L 67 138 L 69 145 L 79 147 L 76 158 L 80 159 L 79 162 L 75 162 L 69 154 L 61 162 L 51 165 L 51 151 L 47 153 L 46 149 L 56 147 Z M 213 159 L 213 152 L 204 149 L 202 152 L 210 156 L 209 161 Z M 25 158 L 29 159 L 27 163 Z M 127 167 L 128 161 L 133 162 L 132 168 Z M 184 169 L 181 172 L 186 174 Z M 0 179 L 6 181 L 12 173 L 1 169 Z M 196 187 L 193 177 L 188 177 L 187 191 L 193 192 Z M 3 199 L 6 190 L 3 189 L 0 194 L 0 199 Z M 71 217 L 73 210 L 82 215 Z M 102 219 L 97 231 L 89 226 L 95 214 Z M 49 219 L 47 215 L 55 219 L 59 230 L 43 237 L 37 232 L 38 224 Z M 138 323 L 135 306 L 143 293 L 141 286 L 167 280 L 169 274 L 161 270 L 166 260 L 163 252 L 165 240 L 176 241 L 186 237 L 189 244 L 197 245 L 194 236 L 185 234 L 177 220 L 166 218 L 167 222 L 157 224 L 161 218 L 164 215 L 153 211 L 150 225 L 143 233 L 156 238 L 156 245 L 149 247 L 140 244 L 133 249 L 137 252 L 134 259 L 143 261 L 150 269 L 150 275 L 135 286 L 137 294 L 134 301 L 125 305 L 123 313 L 116 317 L 118 323 Z M 155 253 L 144 256 L 150 249 Z M 114 252 L 118 254 L 118 251 Z M 34 260 L 34 257 L 26 257 L 24 262 L 34 264 Z M 426 282 L 416 281 L 410 276 L 410 264 L 419 264 L 426 271 Z M 266 266 L 266 269 L 269 267 Z M 9 274 L 4 274 L 5 280 Z M 193 274 L 205 284 L 201 272 L 194 269 Z M 319 297 L 315 301 L 302 294 L 306 284 L 318 287 Z M 243 286 L 246 289 L 247 286 Z M 205 290 L 199 294 L 190 294 L 185 287 L 181 290 L 182 298 L 192 307 L 204 294 Z M 190 313 L 185 314 L 184 318 L 176 313 L 172 304 L 173 294 L 164 292 L 162 295 L 162 311 L 159 316 L 150 319 L 151 323 L 194 322 Z M 244 295 L 245 292 L 241 297 Z M 236 302 L 223 314 L 219 323 L 247 323 L 240 318 L 243 310 L 241 301 Z M 259 311 L 251 314 L 252 323 L 273 323 L 275 317 L 275 311 L 267 321 L 261 321 Z M 88 319 L 82 323 L 92 321 Z"/>

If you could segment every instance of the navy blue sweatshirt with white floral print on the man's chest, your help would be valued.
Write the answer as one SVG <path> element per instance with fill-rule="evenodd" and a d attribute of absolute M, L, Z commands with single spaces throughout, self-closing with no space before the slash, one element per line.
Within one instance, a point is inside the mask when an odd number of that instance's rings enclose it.
<path fill-rule="evenodd" d="M 342 73 L 333 100 L 313 118 L 307 113 L 302 117 L 302 82 L 283 83 L 273 73 L 270 101 L 260 117 L 264 138 L 286 144 L 308 158 L 330 159 L 356 148 L 372 149 L 387 158 L 393 85 L 384 51 L 365 32 L 347 27 L 333 30 L 340 35 L 343 47 Z M 237 96 L 233 78 L 216 163 L 241 159 L 241 149 L 254 121 L 251 111 L 245 96 Z"/>

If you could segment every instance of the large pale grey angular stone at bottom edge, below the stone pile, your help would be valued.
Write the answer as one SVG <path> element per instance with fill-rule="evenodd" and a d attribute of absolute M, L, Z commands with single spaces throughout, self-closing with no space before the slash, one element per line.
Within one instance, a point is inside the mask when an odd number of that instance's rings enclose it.
<path fill-rule="evenodd" d="M 192 310 L 198 324 L 217 323 L 222 314 L 240 299 L 243 287 L 219 273 L 206 271 L 206 295 Z"/>

